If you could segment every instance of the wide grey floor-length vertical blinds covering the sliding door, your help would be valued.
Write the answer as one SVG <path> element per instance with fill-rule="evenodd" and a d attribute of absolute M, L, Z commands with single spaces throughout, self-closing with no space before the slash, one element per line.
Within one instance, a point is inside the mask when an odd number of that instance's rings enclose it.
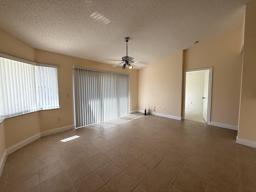
<path fill-rule="evenodd" d="M 129 113 L 129 76 L 74 68 L 76 127 Z"/>

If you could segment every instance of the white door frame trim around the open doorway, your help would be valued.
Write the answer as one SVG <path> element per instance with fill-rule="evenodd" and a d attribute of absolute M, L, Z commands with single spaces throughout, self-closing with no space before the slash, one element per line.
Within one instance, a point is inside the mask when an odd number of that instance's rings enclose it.
<path fill-rule="evenodd" d="M 202 70 L 209 70 L 209 91 L 208 91 L 208 119 L 207 124 L 210 125 L 211 119 L 211 103 L 212 103 L 212 67 L 206 68 L 199 68 L 199 69 L 190 69 L 183 71 L 183 98 L 182 98 L 182 120 L 185 119 L 185 95 L 186 95 L 186 72 L 193 72 L 193 71 L 202 71 Z"/>

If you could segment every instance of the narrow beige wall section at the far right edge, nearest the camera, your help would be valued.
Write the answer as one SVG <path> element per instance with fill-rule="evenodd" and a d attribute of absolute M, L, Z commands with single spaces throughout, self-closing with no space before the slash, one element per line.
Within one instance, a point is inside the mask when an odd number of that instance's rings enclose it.
<path fill-rule="evenodd" d="M 256 1 L 246 5 L 238 138 L 256 142 Z"/>

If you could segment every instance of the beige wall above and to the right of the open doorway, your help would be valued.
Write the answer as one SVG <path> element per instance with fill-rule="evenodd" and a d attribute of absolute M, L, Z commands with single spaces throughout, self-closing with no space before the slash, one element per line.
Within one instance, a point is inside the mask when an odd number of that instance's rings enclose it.
<path fill-rule="evenodd" d="M 184 70 L 213 67 L 211 122 L 238 126 L 242 27 L 184 51 Z"/>

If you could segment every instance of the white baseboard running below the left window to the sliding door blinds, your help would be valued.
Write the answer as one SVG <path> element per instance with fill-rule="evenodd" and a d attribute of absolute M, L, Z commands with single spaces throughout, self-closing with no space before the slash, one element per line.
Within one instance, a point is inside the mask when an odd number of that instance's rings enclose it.
<path fill-rule="evenodd" d="M 49 130 L 49 131 L 40 132 L 40 133 L 30 137 L 30 138 L 27 138 L 26 140 L 23 140 L 22 142 L 19 142 L 19 143 L 15 144 L 14 146 L 11 146 L 8 149 L 6 149 L 7 155 L 13 153 L 14 151 L 16 151 L 16 150 L 18 150 L 18 149 L 20 149 L 24 146 L 26 146 L 27 144 L 30 144 L 31 142 L 39 139 L 40 137 L 51 135 L 51 134 L 62 132 L 62 131 L 66 131 L 66 130 L 70 130 L 70 129 L 74 129 L 74 128 L 75 128 L 75 125 L 69 125 L 69 126 L 64 126 L 64 127 L 52 129 L 52 130 Z"/>

